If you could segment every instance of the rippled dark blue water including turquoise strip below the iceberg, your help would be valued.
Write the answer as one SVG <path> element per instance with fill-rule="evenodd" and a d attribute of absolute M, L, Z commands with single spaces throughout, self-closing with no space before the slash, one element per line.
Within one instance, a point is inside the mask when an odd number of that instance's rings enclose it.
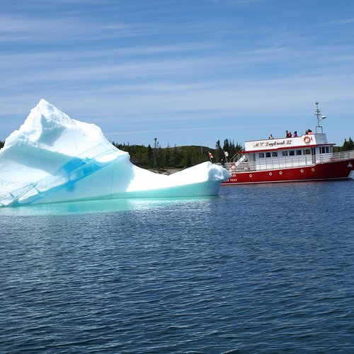
<path fill-rule="evenodd" d="M 1 353 L 353 353 L 354 181 L 0 210 Z"/>

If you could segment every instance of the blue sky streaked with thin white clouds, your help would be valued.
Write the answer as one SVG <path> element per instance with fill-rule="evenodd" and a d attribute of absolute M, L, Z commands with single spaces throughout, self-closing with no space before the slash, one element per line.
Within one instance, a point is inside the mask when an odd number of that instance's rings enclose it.
<path fill-rule="evenodd" d="M 2 0 L 0 139 L 45 98 L 115 142 L 354 138 L 352 0 Z"/>

